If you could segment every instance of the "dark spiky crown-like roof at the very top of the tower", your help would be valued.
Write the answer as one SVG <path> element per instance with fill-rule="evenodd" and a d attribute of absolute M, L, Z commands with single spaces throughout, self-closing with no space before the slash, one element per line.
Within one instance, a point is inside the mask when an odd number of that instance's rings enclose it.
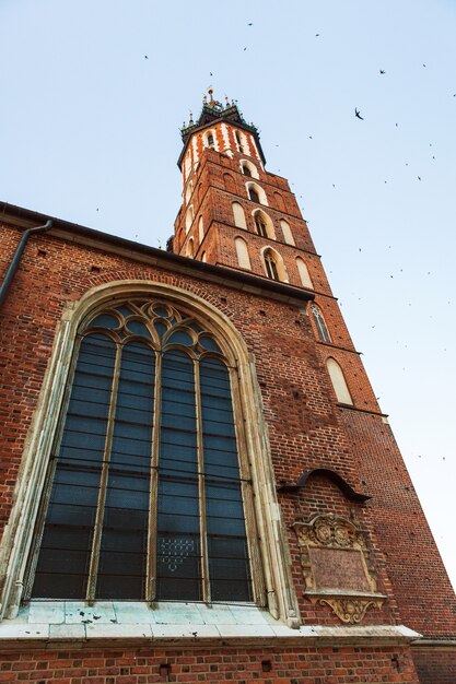
<path fill-rule="evenodd" d="M 177 165 L 179 168 L 182 166 L 182 162 L 187 151 L 187 145 L 192 133 L 202 130 L 208 126 L 211 126 L 214 121 L 226 121 L 229 123 L 234 123 L 237 128 L 253 133 L 255 135 L 255 141 L 257 143 L 261 161 L 264 164 L 266 164 L 265 154 L 262 152 L 259 141 L 259 131 L 254 123 L 247 123 L 247 121 L 244 119 L 243 113 L 239 111 L 237 107 L 237 99 L 232 99 L 230 102 L 229 97 L 225 95 L 225 104 L 223 105 L 222 103 L 213 98 L 213 89 L 209 87 L 208 94 L 203 95 L 202 97 L 202 109 L 197 121 L 194 121 L 192 114 L 190 113 L 190 119 L 188 123 L 184 122 L 184 126 L 180 129 L 184 148 L 177 161 Z"/>

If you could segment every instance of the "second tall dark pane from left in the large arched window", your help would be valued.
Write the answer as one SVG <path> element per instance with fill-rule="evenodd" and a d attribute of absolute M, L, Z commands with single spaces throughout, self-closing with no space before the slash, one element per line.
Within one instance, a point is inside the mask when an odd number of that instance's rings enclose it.
<path fill-rule="evenodd" d="M 127 344 L 120 363 L 103 518 L 96 588 L 100 598 L 144 598 L 154 381 L 154 352 L 139 342 Z M 132 400 L 137 388 L 141 392 Z M 124 403 L 126 397 L 128 406 Z M 125 465 L 122 471 L 120 464 Z M 137 473 L 130 474 L 131 469 Z M 117 535 L 125 539 L 128 534 L 139 553 L 131 545 L 126 549 L 117 544 L 113 549 Z"/>

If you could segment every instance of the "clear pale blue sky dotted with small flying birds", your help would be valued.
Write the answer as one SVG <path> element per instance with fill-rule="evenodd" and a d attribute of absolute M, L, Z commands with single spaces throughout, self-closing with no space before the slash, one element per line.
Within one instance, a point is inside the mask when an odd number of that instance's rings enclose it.
<path fill-rule="evenodd" d="M 454 585 L 455 35 L 453 0 L 0 0 L 1 200 L 164 246 L 207 87 L 258 126 Z"/>

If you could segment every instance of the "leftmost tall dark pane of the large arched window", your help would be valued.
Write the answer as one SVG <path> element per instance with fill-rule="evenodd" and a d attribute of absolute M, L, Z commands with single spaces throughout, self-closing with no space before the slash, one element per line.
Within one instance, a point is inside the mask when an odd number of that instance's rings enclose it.
<path fill-rule="evenodd" d="M 107 431 L 107 411 L 101 410 L 100 400 L 102 397 L 107 402 L 110 397 L 115 357 L 116 345 L 102 334 L 87 335 L 81 343 L 33 597 L 83 599 L 85 595 Z M 82 387 L 93 387 L 96 391 L 84 392 Z M 71 413 L 74 406 L 81 415 Z M 71 468 L 71 463 L 79 467 Z M 87 470 L 82 470 L 82 463 Z M 94 463 L 98 465 L 95 470 Z"/>

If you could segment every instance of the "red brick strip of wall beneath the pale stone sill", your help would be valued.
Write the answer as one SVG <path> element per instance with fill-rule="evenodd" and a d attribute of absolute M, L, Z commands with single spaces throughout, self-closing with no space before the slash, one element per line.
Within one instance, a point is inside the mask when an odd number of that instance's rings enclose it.
<path fill-rule="evenodd" d="M 418 684 L 409 651 L 385 647 L 62 649 L 1 653 L 0 662 L 0 682 L 36 684 Z"/>

